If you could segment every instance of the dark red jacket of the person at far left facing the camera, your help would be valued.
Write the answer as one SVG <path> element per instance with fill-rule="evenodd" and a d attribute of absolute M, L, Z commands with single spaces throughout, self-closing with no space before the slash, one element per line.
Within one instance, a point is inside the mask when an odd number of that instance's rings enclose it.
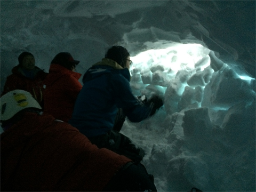
<path fill-rule="evenodd" d="M 33 97 L 37 100 L 37 102 L 43 107 L 43 99 L 44 99 L 44 84 L 43 81 L 47 76 L 42 69 L 35 67 L 33 70 L 34 78 L 26 77 L 25 73 L 23 73 L 21 67 L 15 66 L 12 69 L 12 75 L 9 75 L 6 78 L 6 82 L 4 85 L 4 90 L 1 94 L 4 95 L 5 93 L 13 90 L 25 90 L 31 93 Z"/>

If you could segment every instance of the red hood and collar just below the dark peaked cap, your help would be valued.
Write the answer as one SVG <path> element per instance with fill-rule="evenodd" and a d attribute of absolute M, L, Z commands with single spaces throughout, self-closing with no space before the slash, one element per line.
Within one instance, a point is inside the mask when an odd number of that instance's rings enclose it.
<path fill-rule="evenodd" d="M 44 84 L 46 86 L 52 85 L 55 81 L 57 81 L 63 75 L 73 76 L 78 80 L 82 74 L 68 70 L 59 64 L 51 64 L 50 69 L 49 69 L 49 75 L 47 75 L 47 77 L 44 81 Z"/>

